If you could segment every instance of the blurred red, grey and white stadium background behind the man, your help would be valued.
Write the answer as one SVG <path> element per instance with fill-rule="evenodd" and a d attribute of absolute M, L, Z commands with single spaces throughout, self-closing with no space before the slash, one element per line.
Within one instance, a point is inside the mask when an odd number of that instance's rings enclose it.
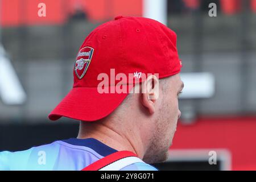
<path fill-rule="evenodd" d="M 170 159 L 156 166 L 256 170 L 256 0 L 0 0 L 0 151 L 77 137 L 79 122 L 47 116 L 72 88 L 85 37 L 117 15 L 177 34 L 183 115 Z"/>

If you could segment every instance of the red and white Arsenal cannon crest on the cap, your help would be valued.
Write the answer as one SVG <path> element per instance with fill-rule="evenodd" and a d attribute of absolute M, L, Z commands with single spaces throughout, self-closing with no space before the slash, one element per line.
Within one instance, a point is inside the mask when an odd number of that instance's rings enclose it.
<path fill-rule="evenodd" d="M 90 61 L 92 60 L 94 49 L 91 47 L 84 47 L 80 49 L 79 53 L 76 57 L 75 62 L 75 73 L 76 76 L 81 79 L 84 77 L 89 65 Z"/>

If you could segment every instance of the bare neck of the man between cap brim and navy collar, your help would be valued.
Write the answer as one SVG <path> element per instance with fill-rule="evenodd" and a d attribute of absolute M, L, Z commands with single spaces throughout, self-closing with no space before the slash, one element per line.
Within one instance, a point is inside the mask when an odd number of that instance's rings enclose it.
<path fill-rule="evenodd" d="M 112 122 L 80 122 L 80 130 L 77 138 L 95 138 L 117 151 L 131 151 L 143 159 L 144 148 L 138 133 L 123 127 L 125 130 L 115 129 L 109 126 Z M 120 125 L 120 124 L 119 124 Z M 118 126 L 118 125 L 115 125 Z M 122 132 L 124 131 L 124 132 Z"/>

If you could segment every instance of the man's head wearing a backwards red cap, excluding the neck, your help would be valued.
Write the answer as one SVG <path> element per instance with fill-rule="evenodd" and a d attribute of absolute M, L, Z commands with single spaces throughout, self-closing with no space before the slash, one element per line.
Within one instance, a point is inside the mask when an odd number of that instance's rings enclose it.
<path fill-rule="evenodd" d="M 146 161 L 162 161 L 180 115 L 180 69 L 174 31 L 156 20 L 118 16 L 84 40 L 73 68 L 73 88 L 49 119 L 83 121 L 81 133 L 92 134 L 96 128 L 106 133 L 99 126 L 108 126 L 134 146 L 141 145 Z M 143 91 L 158 83 L 159 92 L 129 94 L 139 85 Z M 125 92 L 119 92 L 120 85 L 127 86 Z"/>

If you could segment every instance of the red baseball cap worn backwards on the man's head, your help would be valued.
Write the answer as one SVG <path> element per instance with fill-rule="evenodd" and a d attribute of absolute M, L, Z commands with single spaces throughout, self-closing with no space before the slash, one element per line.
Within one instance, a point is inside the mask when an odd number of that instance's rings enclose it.
<path fill-rule="evenodd" d="M 180 69 L 174 31 L 153 19 L 117 16 L 86 37 L 73 68 L 73 88 L 48 117 L 53 121 L 61 117 L 96 121 L 112 113 L 129 92 L 98 92 L 101 74 L 111 77 L 114 71 L 138 77 L 138 73 L 151 73 L 164 78 Z M 109 89 L 117 83 L 110 80 Z"/>

